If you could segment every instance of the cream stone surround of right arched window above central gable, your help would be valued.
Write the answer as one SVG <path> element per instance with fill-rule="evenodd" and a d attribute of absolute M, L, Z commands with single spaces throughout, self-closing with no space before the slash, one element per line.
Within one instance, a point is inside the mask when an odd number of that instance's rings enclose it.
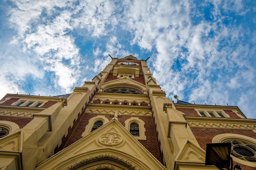
<path fill-rule="evenodd" d="M 127 119 L 124 124 L 125 128 L 128 132 L 130 132 L 130 124 L 136 123 L 139 125 L 139 136 L 135 136 L 135 139 L 138 140 L 146 140 L 146 129 L 145 129 L 145 123 L 143 120 L 139 119 L 139 117 L 131 117 L 130 119 Z"/>

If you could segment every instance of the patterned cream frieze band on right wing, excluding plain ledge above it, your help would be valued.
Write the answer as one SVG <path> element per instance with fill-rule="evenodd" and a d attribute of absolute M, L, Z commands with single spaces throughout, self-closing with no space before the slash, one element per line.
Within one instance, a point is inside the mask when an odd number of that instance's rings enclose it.
<path fill-rule="evenodd" d="M 215 122 L 194 122 L 189 121 L 190 127 L 204 127 L 204 128 L 232 128 L 232 129 L 256 129 L 255 124 L 232 124 L 232 123 L 215 123 Z"/>

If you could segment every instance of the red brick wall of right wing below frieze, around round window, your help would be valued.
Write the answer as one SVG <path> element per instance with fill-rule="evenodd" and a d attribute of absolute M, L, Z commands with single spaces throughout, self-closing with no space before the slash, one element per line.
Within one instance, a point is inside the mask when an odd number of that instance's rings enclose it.
<path fill-rule="evenodd" d="M 194 128 L 190 127 L 193 134 L 195 135 L 195 138 L 198 141 L 198 144 L 200 147 L 204 150 L 206 150 L 206 144 L 211 143 L 213 137 L 216 135 L 220 135 L 222 133 L 235 133 L 240 135 L 245 135 L 248 137 L 252 137 L 256 139 L 256 133 L 252 130 L 237 130 L 237 129 L 218 129 L 218 128 Z M 234 162 L 235 164 L 239 164 Z M 242 168 L 242 170 L 256 170 L 256 168 L 245 166 L 243 164 L 239 164 Z"/>

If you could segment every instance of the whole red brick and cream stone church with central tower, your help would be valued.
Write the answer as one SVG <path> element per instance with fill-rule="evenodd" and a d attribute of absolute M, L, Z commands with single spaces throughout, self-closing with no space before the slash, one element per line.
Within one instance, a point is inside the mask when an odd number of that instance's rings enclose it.
<path fill-rule="evenodd" d="M 229 145 L 228 166 L 256 170 L 256 119 L 175 98 L 132 55 L 112 58 L 68 95 L 7 94 L 0 170 L 228 170 L 209 163 L 209 144 Z"/>

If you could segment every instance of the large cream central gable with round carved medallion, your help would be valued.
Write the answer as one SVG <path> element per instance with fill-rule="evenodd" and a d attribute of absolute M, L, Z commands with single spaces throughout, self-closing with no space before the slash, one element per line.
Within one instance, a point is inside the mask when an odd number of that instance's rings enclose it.
<path fill-rule="evenodd" d="M 74 144 L 58 152 L 36 170 L 87 169 L 108 163 L 131 170 L 166 170 L 153 155 L 144 148 L 116 119 L 94 130 Z"/>

